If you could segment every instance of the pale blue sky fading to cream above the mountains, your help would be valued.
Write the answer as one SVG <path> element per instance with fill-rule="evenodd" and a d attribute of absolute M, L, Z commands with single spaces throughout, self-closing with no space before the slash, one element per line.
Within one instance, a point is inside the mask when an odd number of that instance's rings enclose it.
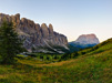
<path fill-rule="evenodd" d="M 52 23 L 69 41 L 89 33 L 112 38 L 112 0 L 0 0 L 0 12 Z"/>

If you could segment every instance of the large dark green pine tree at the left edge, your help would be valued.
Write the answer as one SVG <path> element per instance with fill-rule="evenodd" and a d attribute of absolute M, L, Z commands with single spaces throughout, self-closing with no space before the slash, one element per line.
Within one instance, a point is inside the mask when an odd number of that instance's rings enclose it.
<path fill-rule="evenodd" d="M 22 43 L 18 38 L 13 24 L 3 22 L 0 27 L 0 63 L 11 64 L 18 53 L 22 52 Z"/>

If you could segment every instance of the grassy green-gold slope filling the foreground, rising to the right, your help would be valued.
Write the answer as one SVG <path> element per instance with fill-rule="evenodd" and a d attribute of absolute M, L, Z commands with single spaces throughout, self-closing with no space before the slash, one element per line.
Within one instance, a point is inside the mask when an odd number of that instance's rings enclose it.
<path fill-rule="evenodd" d="M 112 39 L 78 53 L 55 63 L 24 58 L 0 65 L 0 83 L 112 83 Z"/>

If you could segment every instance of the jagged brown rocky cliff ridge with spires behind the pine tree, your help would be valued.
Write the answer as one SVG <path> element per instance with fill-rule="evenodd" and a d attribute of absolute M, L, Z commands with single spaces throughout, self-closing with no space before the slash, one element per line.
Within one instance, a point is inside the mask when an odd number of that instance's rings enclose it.
<path fill-rule="evenodd" d="M 41 25 L 34 23 L 32 20 L 22 18 L 20 19 L 20 14 L 9 15 L 0 13 L 0 25 L 3 20 L 8 22 L 13 22 L 16 31 L 19 33 L 19 38 L 23 39 L 23 46 L 31 51 L 32 48 L 39 51 L 39 46 L 48 46 L 48 45 L 60 45 L 65 46 L 68 44 L 67 37 L 53 31 L 53 25 L 42 23 Z"/>

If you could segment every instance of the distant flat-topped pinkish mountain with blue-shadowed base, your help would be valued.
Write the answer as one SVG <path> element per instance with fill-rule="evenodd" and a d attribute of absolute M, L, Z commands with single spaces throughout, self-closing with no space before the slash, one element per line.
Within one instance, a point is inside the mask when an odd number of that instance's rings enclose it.
<path fill-rule="evenodd" d="M 77 50 L 91 48 L 99 43 L 100 41 L 95 34 L 82 34 L 75 41 L 69 42 L 69 44 L 73 48 L 77 48 Z"/>

